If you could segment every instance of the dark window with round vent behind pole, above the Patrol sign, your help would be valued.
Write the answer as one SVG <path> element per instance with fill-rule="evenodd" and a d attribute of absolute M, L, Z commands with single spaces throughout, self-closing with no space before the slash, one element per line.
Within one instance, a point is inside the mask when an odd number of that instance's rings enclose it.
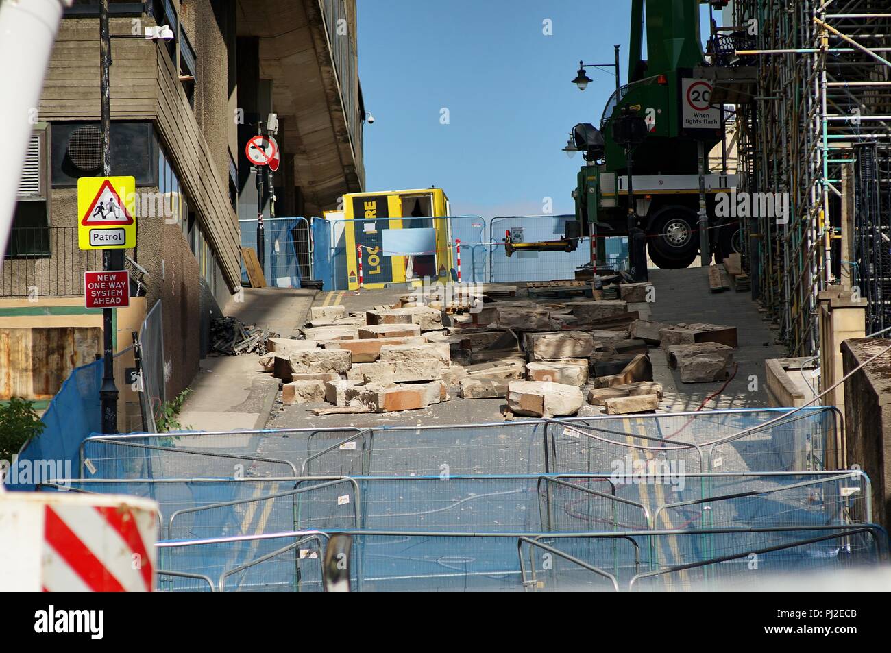
<path fill-rule="evenodd" d="M 111 123 L 111 174 L 133 175 L 137 186 L 158 185 L 158 145 L 151 123 Z M 102 131 L 98 122 L 54 122 L 54 188 L 75 188 L 78 177 L 102 175 Z"/>

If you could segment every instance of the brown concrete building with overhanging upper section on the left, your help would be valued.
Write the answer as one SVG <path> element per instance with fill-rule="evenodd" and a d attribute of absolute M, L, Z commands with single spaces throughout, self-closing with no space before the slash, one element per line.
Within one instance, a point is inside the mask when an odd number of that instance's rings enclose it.
<path fill-rule="evenodd" d="M 49 399 L 102 352 L 102 314 L 83 307 L 83 273 L 101 269 L 101 252 L 79 250 L 77 236 L 78 177 L 102 173 L 98 12 L 98 0 L 65 12 L 35 111 L 0 275 L 0 400 Z M 117 310 L 116 347 L 161 306 L 157 403 L 189 384 L 210 317 L 238 298 L 238 220 L 257 217 L 244 147 L 257 122 L 279 120 L 276 215 L 321 215 L 363 190 L 356 2 L 112 0 L 110 19 L 111 173 L 135 176 L 137 213 L 133 297 Z M 145 40 L 151 25 L 175 37 Z M 136 401 L 121 379 L 132 364 L 118 363 L 122 405 Z"/>

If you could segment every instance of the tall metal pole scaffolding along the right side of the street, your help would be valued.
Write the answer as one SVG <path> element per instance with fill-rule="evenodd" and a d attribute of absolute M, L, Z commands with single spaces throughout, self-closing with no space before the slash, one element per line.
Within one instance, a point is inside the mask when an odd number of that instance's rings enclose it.
<path fill-rule="evenodd" d="M 846 260 L 839 233 L 843 167 L 859 143 L 891 143 L 891 0 L 735 0 L 724 15 L 729 65 L 757 79 L 737 107 L 740 191 L 789 199 L 784 216 L 742 221 L 753 294 L 790 355 L 815 355 L 822 290 L 851 274 L 855 293 L 880 291 L 856 287 L 869 261 Z"/>

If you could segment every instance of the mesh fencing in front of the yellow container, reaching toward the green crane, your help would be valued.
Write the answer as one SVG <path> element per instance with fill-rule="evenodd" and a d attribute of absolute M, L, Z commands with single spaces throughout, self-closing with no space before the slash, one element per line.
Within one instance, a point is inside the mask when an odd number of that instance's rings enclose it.
<path fill-rule="evenodd" d="M 324 220 L 313 218 L 314 270 L 330 290 L 356 286 L 358 269 L 354 247 L 364 242 L 363 234 L 374 233 L 373 248 L 366 247 L 364 283 L 391 286 L 422 282 L 510 283 L 573 280 L 576 270 L 592 260 L 591 239 L 587 236 L 568 242 L 559 251 L 517 251 L 508 256 L 506 233 L 513 241 L 560 241 L 567 223 L 575 216 L 482 216 L 388 218 L 387 232 L 425 230 L 388 238 L 380 233 L 376 220 Z M 624 238 L 608 238 L 607 261 L 616 269 L 627 267 Z M 458 244 L 461 244 L 461 273 L 458 271 Z M 347 242 L 353 243 L 352 246 Z M 358 245 L 356 244 L 358 243 Z M 371 250 L 373 249 L 373 251 Z M 568 251 L 572 249 L 572 251 Z M 370 255 L 382 255 L 380 270 L 371 273 Z M 375 259 L 377 260 L 377 259 Z"/>

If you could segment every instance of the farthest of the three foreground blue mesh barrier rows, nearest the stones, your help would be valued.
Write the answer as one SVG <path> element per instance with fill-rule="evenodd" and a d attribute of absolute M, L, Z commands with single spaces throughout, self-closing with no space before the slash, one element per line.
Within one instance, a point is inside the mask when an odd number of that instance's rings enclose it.
<path fill-rule="evenodd" d="M 79 478 L 683 474 L 834 469 L 838 410 L 813 406 L 395 427 L 87 438 Z M 650 462 L 643 463 L 642 461 Z M 829 464 L 827 464 L 829 461 Z"/>

